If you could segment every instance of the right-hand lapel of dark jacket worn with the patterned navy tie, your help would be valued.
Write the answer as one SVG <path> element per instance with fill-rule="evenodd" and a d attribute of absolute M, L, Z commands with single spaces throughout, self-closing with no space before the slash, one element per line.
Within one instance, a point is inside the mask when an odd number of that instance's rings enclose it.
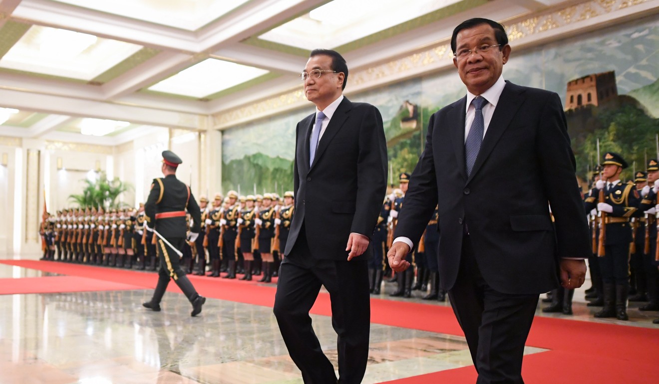
<path fill-rule="evenodd" d="M 480 151 L 478 151 L 478 156 L 476 157 L 474 167 L 471 169 L 471 175 L 469 175 L 467 182 L 474 178 L 474 175 L 476 175 L 478 169 L 483 165 L 485 159 L 488 158 L 499 138 L 505 132 L 505 129 L 508 128 L 510 121 L 515 117 L 515 113 L 521 107 L 523 101 L 523 97 L 520 94 L 521 91 L 521 88 L 517 88 L 515 84 L 506 82 L 505 88 L 501 92 L 501 97 L 499 97 L 499 103 L 496 109 L 494 109 L 494 115 L 492 115 L 490 125 L 485 131 L 483 142 L 480 144 Z"/>

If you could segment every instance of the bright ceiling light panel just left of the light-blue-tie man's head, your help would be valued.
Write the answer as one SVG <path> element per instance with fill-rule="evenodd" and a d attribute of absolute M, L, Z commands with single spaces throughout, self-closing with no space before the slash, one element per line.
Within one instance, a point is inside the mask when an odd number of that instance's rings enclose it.
<path fill-rule="evenodd" d="M 206 59 L 148 88 L 156 92 L 206 97 L 268 73 L 267 70 Z"/>

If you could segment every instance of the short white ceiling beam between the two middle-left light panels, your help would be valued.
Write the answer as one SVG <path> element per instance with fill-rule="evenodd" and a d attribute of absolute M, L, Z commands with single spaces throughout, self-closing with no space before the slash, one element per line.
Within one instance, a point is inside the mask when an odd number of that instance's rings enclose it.
<path fill-rule="evenodd" d="M 106 99 L 132 94 L 141 88 L 152 86 L 177 72 L 190 67 L 199 59 L 186 53 L 161 52 L 146 63 L 121 74 L 121 76 L 103 84 Z"/>

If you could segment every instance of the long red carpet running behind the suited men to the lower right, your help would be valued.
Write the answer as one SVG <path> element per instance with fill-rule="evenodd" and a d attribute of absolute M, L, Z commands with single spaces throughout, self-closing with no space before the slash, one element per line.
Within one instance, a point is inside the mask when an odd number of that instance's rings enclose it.
<path fill-rule="evenodd" d="M 148 289 L 155 287 L 158 280 L 155 273 L 53 261 L 5 260 L 0 263 Z M 200 294 L 211 298 L 260 306 L 272 306 L 274 301 L 273 285 L 196 276 L 190 276 L 190 280 Z M 180 292 L 174 284 L 170 284 L 168 290 Z M 318 296 L 312 313 L 331 314 L 328 294 Z M 444 306 L 374 298 L 371 299 L 371 321 L 463 335 L 451 308 Z M 659 329 L 536 317 L 527 345 L 549 350 L 525 357 L 523 375 L 527 383 L 642 384 L 656 383 L 659 376 L 659 364 L 656 362 L 659 356 Z M 474 368 L 465 367 L 389 383 L 452 384 L 475 381 Z"/>

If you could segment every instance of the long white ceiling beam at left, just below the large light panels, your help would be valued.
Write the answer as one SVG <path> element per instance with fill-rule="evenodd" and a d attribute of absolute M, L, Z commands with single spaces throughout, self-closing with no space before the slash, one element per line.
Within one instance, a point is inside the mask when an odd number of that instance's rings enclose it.
<path fill-rule="evenodd" d="M 133 124 L 148 124 L 169 128 L 197 129 L 200 121 L 200 115 L 192 113 L 154 110 L 132 105 L 30 94 L 6 89 L 0 90 L 0 105 L 42 113 L 121 120 Z"/>

